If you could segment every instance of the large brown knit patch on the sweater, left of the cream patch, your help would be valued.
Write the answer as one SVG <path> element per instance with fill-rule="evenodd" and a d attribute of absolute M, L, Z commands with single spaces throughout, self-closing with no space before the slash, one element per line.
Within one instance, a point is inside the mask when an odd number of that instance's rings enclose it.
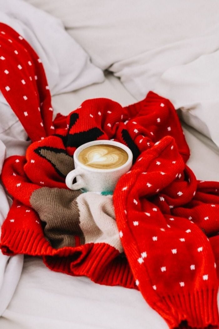
<path fill-rule="evenodd" d="M 80 191 L 43 187 L 31 195 L 30 203 L 45 222 L 45 237 L 54 248 L 76 246 L 75 236 L 81 244 L 85 243 L 76 200 L 80 194 Z"/>

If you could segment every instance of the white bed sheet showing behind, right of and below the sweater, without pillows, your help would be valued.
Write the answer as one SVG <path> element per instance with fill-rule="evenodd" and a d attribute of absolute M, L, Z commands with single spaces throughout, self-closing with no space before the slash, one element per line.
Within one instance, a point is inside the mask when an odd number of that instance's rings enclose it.
<path fill-rule="evenodd" d="M 123 106 L 136 101 L 117 78 L 108 75 L 102 84 L 54 96 L 53 107 L 56 113 L 68 114 L 85 99 L 96 97 L 111 98 Z M 217 148 L 186 125 L 183 129 L 191 149 L 188 165 L 197 178 L 219 180 Z M 168 326 L 139 291 L 56 273 L 40 258 L 25 257 L 20 282 L 0 318 L 0 328 L 167 329 Z"/>

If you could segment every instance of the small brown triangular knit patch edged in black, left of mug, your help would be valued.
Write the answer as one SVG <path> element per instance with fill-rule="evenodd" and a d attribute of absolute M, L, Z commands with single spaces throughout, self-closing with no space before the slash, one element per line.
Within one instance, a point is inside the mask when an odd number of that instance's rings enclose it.
<path fill-rule="evenodd" d="M 42 157 L 46 158 L 49 162 L 51 162 L 61 174 L 66 176 L 69 171 L 75 169 L 74 160 L 72 157 L 65 153 L 57 153 L 53 150 L 48 150 L 45 148 L 41 148 L 39 151 Z"/>

